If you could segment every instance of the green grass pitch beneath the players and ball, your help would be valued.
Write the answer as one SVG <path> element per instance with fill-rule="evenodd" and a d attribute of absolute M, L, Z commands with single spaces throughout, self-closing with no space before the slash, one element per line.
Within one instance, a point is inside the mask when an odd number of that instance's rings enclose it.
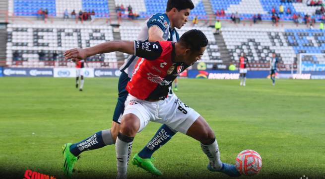
<path fill-rule="evenodd" d="M 62 149 L 111 127 L 117 78 L 85 79 L 84 91 L 74 79 L 0 78 L 0 174 L 23 178 L 30 169 L 57 179 Z M 235 163 L 239 152 L 253 149 L 262 170 L 251 179 L 325 178 L 325 81 L 248 79 L 180 79 L 178 97 L 198 111 L 214 130 L 223 162 Z M 160 124 L 136 135 L 132 156 Z M 199 142 L 176 134 L 156 153 L 163 178 L 226 178 L 207 171 Z M 115 178 L 115 146 L 81 154 L 74 178 Z M 8 176 L 9 175 L 9 176 Z M 150 178 L 129 165 L 128 176 Z M 244 178 L 244 177 L 242 177 Z"/>

